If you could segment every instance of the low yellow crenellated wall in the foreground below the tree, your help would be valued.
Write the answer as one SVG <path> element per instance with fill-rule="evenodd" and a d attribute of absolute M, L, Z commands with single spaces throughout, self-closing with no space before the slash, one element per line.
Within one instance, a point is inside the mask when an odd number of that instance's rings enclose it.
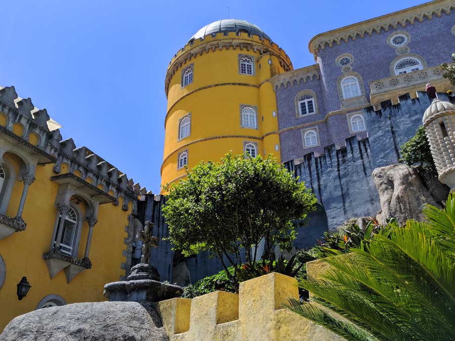
<path fill-rule="evenodd" d="M 170 340 L 341 340 L 287 309 L 299 299 L 297 281 L 270 273 L 240 283 L 239 294 L 215 291 L 189 299 L 159 302 Z"/>

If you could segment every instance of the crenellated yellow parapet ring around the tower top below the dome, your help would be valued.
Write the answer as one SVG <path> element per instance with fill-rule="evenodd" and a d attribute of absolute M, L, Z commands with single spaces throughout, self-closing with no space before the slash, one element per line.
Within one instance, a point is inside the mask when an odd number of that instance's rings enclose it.
<path fill-rule="evenodd" d="M 280 65 L 286 71 L 293 69 L 291 59 L 276 43 L 268 39 L 261 39 L 257 35 L 250 36 L 245 32 L 240 32 L 239 34 L 236 32 L 228 32 L 227 34 L 220 32 L 192 40 L 177 51 L 169 62 L 166 72 L 164 85 L 166 96 L 170 80 L 179 68 L 190 62 L 193 58 L 196 58 L 198 55 L 202 56 L 204 53 L 222 51 L 223 48 L 225 50 L 229 50 L 230 48 L 233 50 L 238 48 L 240 51 L 252 50 L 255 53 L 259 52 L 260 54 L 271 53 L 280 60 Z"/>

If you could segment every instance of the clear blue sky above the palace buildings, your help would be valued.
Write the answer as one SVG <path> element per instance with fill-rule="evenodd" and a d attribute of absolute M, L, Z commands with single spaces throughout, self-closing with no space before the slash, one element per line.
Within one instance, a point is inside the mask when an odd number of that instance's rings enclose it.
<path fill-rule="evenodd" d="M 166 96 L 175 52 L 228 17 L 258 25 L 294 68 L 314 63 L 317 33 L 421 4 L 339 1 L 7 1 L 0 9 L 0 84 L 147 189 L 159 192 Z"/>

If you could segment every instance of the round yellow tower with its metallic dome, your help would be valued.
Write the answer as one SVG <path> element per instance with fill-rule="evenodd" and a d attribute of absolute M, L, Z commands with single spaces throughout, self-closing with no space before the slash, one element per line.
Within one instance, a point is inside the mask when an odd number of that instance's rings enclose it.
<path fill-rule="evenodd" d="M 280 161 L 269 80 L 290 70 L 282 48 L 244 20 L 216 21 L 193 35 L 166 73 L 162 184 L 184 177 L 185 165 L 218 161 L 229 151 Z"/>

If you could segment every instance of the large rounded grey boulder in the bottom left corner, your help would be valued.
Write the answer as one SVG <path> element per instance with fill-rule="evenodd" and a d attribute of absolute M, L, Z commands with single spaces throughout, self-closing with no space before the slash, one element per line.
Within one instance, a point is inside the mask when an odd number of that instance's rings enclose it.
<path fill-rule="evenodd" d="M 164 341 L 156 311 L 136 302 L 75 303 L 32 311 L 13 319 L 2 341 Z"/>

